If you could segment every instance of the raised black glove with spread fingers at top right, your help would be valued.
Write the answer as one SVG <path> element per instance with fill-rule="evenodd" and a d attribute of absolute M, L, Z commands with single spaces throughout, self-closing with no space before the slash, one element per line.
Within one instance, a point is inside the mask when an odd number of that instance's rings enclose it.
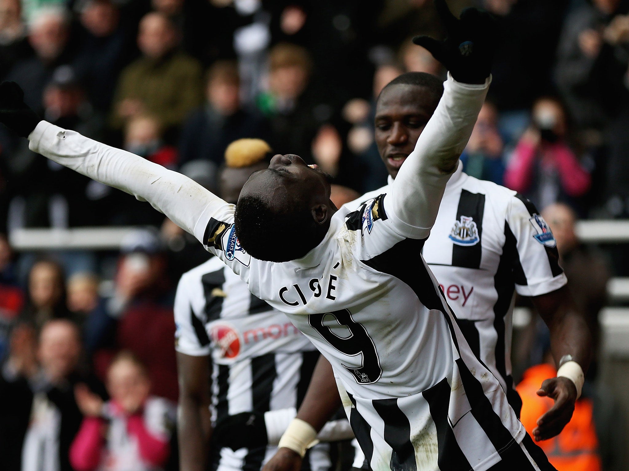
<path fill-rule="evenodd" d="M 486 11 L 466 8 L 457 19 L 445 0 L 435 0 L 447 37 L 437 41 L 415 36 L 413 42 L 425 47 L 450 71 L 457 82 L 484 84 L 491 73 L 491 62 L 498 43 L 496 20 Z"/>

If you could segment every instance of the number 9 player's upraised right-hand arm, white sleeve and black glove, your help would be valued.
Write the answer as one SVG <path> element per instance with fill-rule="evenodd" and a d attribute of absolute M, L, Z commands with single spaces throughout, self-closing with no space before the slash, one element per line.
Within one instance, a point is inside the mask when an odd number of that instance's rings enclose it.
<path fill-rule="evenodd" d="M 447 31 L 446 40 L 420 36 L 414 41 L 450 72 L 437 109 L 392 184 L 389 206 L 394 217 L 415 234 L 417 228 L 427 232 L 435 222 L 445 184 L 457 168 L 487 94 L 496 42 L 489 13 L 470 8 L 457 19 L 445 0 L 435 0 L 435 6 Z"/>

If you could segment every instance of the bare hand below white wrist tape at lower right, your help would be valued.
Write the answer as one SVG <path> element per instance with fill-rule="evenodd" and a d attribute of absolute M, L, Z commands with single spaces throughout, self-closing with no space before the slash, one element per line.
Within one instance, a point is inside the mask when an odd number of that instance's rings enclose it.
<path fill-rule="evenodd" d="M 533 429 L 535 441 L 548 440 L 559 435 L 571 420 L 577 401 L 577 387 L 571 379 L 557 376 L 542 382 L 537 395 L 555 400 L 554 406 L 537 420 L 537 427 Z"/>

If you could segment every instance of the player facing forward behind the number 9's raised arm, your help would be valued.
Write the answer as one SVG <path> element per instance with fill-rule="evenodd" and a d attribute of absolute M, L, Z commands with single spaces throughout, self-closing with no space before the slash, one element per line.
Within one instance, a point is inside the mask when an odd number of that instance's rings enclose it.
<path fill-rule="evenodd" d="M 419 72 L 404 73 L 384 87 L 376 102 L 375 139 L 389 171 L 389 185 L 348 203 L 348 207 L 391 191 L 391 182 L 442 94 L 437 77 Z M 540 384 L 538 394 L 555 399 L 555 405 L 539 418 L 535 440 L 559 434 L 570 421 L 581 391 L 581 368 L 586 369 L 591 354 L 587 323 L 574 309 L 555 245 L 552 232 L 531 202 L 508 188 L 466 175 L 459 162 L 445 187 L 431 236 L 423 246 L 423 257 L 455 311 L 467 342 L 499 379 L 518 416 L 522 403 L 511 376 L 515 292 L 530 297 L 547 323 L 555 361 L 564 369 Z M 329 403 L 321 400 L 328 397 L 326 392 L 334 384 L 330 366 L 320 365 L 298 415 L 300 420 L 308 417 L 313 430 L 341 405 L 336 396 Z M 279 418 L 284 419 L 284 427 L 289 425 L 285 411 L 274 416 L 276 420 L 271 414 L 266 417 L 266 435 L 248 433 L 248 439 L 255 443 L 277 436 Z M 230 430 L 221 437 L 226 445 L 234 435 L 242 434 L 249 418 L 234 416 L 230 420 Z M 355 467 L 365 467 L 360 455 L 357 450 Z M 289 453 L 278 468 L 291 468 L 291 459 L 298 461 Z"/>

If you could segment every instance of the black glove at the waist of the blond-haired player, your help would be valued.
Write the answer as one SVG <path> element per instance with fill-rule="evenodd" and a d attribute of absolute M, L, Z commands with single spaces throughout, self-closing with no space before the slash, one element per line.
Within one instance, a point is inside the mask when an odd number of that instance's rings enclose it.
<path fill-rule="evenodd" d="M 264 414 L 243 412 L 220 420 L 212 431 L 212 441 L 218 447 L 240 448 L 266 447 L 269 443 Z"/>

